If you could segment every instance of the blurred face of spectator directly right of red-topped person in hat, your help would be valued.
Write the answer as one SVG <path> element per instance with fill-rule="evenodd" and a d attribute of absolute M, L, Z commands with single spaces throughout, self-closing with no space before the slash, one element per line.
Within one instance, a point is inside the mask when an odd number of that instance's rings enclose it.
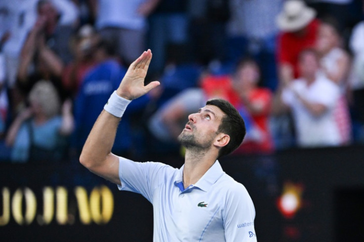
<path fill-rule="evenodd" d="M 318 52 L 328 52 L 331 48 L 338 45 L 338 39 L 335 28 L 329 24 L 322 23 L 318 29 L 318 39 L 316 42 Z"/>

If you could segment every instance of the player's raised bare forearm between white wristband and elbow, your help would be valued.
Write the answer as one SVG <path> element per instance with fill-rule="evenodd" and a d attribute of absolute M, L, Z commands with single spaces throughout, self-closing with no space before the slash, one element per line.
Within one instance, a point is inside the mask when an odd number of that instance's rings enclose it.
<path fill-rule="evenodd" d="M 82 150 L 80 161 L 83 165 L 91 168 L 106 160 L 111 153 L 119 122 L 119 118 L 105 110 L 101 112 Z"/>

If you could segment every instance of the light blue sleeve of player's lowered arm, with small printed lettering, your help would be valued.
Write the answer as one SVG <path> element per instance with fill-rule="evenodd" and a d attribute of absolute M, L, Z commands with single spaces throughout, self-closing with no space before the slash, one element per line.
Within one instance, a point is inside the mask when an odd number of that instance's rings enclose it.
<path fill-rule="evenodd" d="M 255 208 L 245 187 L 239 183 L 227 192 L 225 204 L 225 239 L 229 242 L 256 242 Z"/>

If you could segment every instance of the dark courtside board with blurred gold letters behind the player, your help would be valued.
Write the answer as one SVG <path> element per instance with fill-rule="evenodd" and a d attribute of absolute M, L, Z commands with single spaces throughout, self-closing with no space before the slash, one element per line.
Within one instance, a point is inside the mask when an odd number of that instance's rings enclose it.
<path fill-rule="evenodd" d="M 183 163 L 177 156 L 150 160 Z M 220 162 L 252 197 L 258 241 L 364 241 L 363 147 L 230 156 Z M 152 237 L 152 205 L 141 195 L 120 192 L 78 161 L 0 163 L 0 241 L 149 242 Z"/>

